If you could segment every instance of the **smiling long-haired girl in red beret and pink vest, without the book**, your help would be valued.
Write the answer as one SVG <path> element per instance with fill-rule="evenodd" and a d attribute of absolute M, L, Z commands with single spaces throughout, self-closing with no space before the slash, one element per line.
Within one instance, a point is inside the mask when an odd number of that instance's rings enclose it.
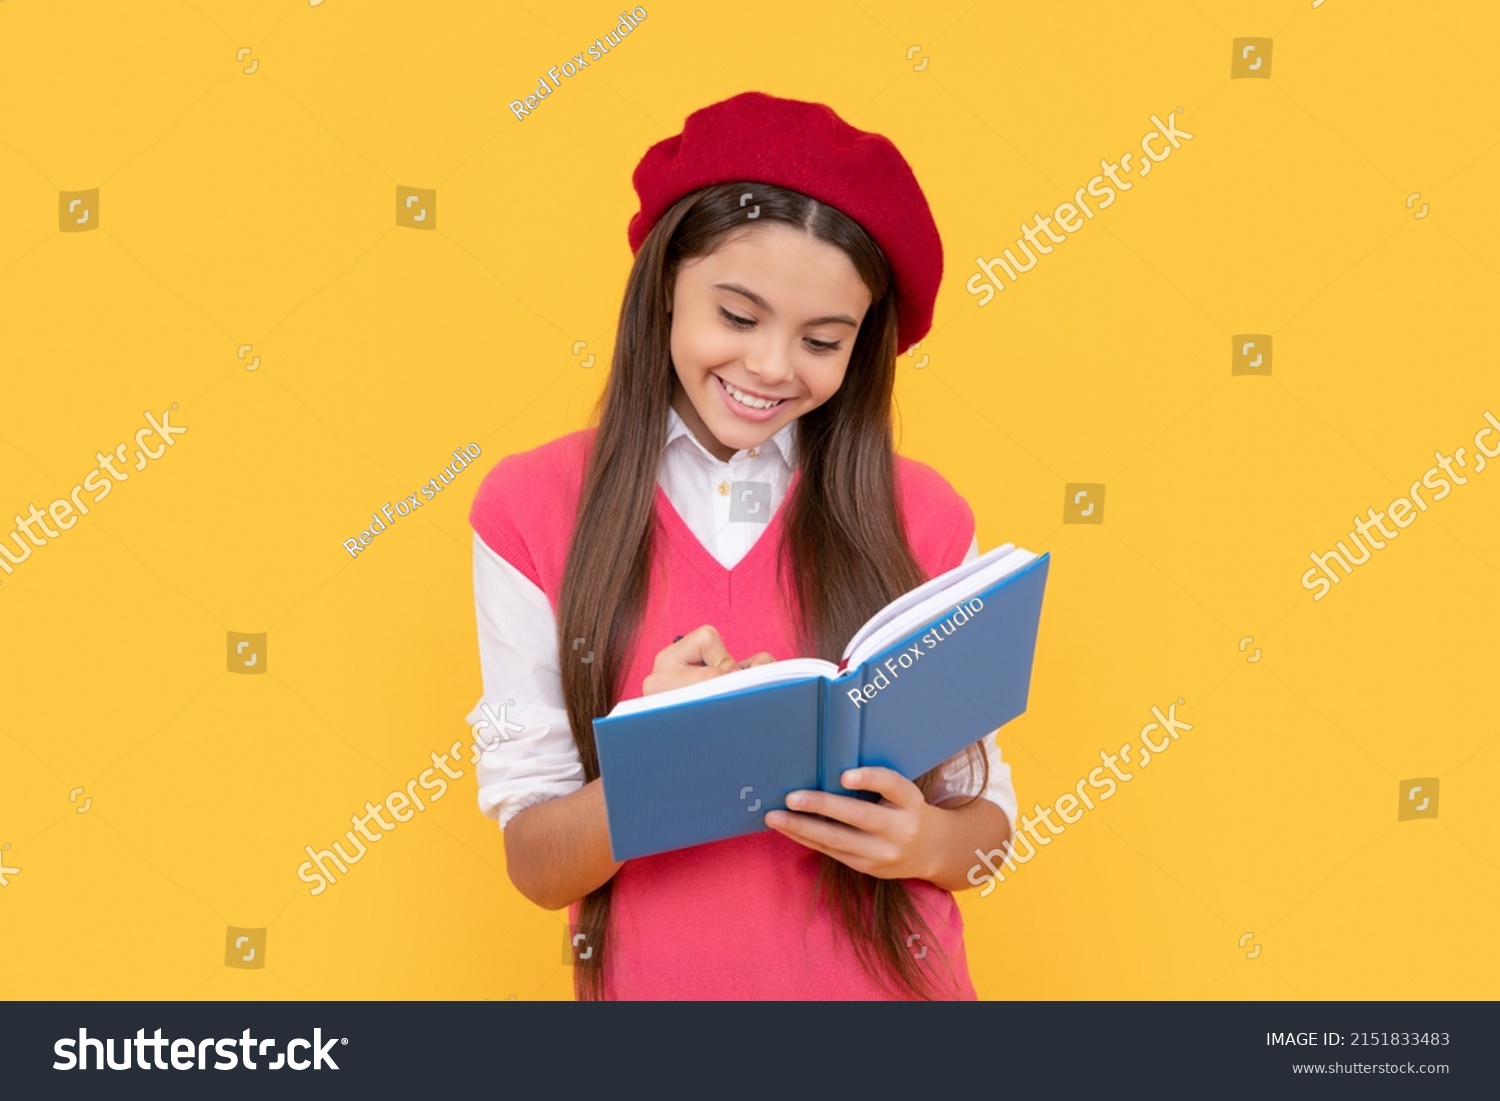
<path fill-rule="evenodd" d="M 916 782 L 842 777 L 879 802 L 798 792 L 765 831 L 610 858 L 597 716 L 837 662 L 885 603 L 978 554 L 963 498 L 892 453 L 896 356 L 942 276 L 896 147 L 744 93 L 654 146 L 634 186 L 598 424 L 502 459 L 470 518 L 470 722 L 504 723 L 480 808 L 518 890 L 568 906 L 582 999 L 974 999 L 951 891 L 1016 816 L 993 734 Z"/>

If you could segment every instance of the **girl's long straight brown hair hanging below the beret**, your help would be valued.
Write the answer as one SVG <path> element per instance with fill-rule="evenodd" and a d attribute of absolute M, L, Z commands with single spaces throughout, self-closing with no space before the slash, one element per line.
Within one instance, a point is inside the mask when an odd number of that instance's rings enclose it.
<path fill-rule="evenodd" d="M 843 249 L 872 296 L 843 386 L 798 422 L 801 478 L 784 504 L 786 543 L 778 556 L 782 592 L 783 567 L 788 560 L 795 564 L 798 645 L 804 654 L 838 662 L 868 616 L 926 580 L 896 501 L 897 288 L 885 255 L 850 218 L 795 190 L 738 182 L 682 196 L 657 220 L 630 270 L 558 598 L 558 666 L 585 780 L 598 776 L 592 720 L 618 702 L 616 681 L 646 598 L 652 506 L 675 378 L 668 314 L 672 276 L 682 261 L 712 252 L 728 234 L 747 228 L 740 204 L 747 190 L 760 207 L 756 225 L 784 222 Z M 596 660 L 574 660 L 579 638 L 588 639 Z M 982 765 L 982 789 L 988 760 L 976 746 L 969 747 L 969 765 Z M 924 795 L 934 777 L 936 770 L 916 780 Z M 610 879 L 582 900 L 579 926 L 590 930 L 597 951 L 574 968 L 579 999 L 606 996 L 612 885 Z M 886 990 L 894 978 L 900 993 L 932 996 L 928 969 L 916 964 L 908 938 L 922 932 L 926 942 L 933 938 L 902 880 L 868 876 L 824 855 L 818 891 L 838 914 L 866 972 Z"/>

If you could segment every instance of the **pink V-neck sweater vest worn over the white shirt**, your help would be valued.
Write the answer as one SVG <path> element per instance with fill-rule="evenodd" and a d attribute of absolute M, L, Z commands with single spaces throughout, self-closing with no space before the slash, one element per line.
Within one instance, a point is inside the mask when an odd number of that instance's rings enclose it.
<path fill-rule="evenodd" d="M 554 614 L 596 429 L 501 459 L 480 486 L 470 522 L 530 578 Z M 896 458 L 897 504 L 918 564 L 934 576 L 963 561 L 974 513 L 932 466 Z M 798 476 L 790 490 L 795 492 Z M 736 658 L 794 650 L 795 596 L 776 585 L 786 502 L 750 552 L 726 570 L 657 486 L 656 548 L 634 652 L 616 686 L 640 696 L 657 652 L 676 634 L 712 624 Z M 550 645 L 538 639 L 537 645 Z M 710 732 L 705 732 L 705 736 Z M 606 794 L 608 796 L 608 794 Z M 615 873 L 604 958 L 612 999 L 888 999 L 861 968 L 830 908 L 816 903 L 820 855 L 772 830 L 626 861 Z M 951 892 L 908 879 L 939 944 L 910 940 L 948 996 L 974 999 L 963 918 Z M 578 903 L 568 916 L 578 921 Z"/>

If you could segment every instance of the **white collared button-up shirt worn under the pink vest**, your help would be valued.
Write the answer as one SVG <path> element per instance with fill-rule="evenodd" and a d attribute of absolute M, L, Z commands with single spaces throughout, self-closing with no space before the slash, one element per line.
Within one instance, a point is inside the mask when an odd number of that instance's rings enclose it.
<path fill-rule="evenodd" d="M 735 452 L 729 462 L 710 454 L 675 410 L 669 410 L 660 483 L 699 543 L 724 567 L 732 568 L 765 532 L 759 520 L 730 520 L 730 495 L 720 483 L 768 483 L 770 512 L 776 514 L 796 470 L 796 422 L 748 452 Z M 980 554 L 978 537 L 964 561 Z M 480 672 L 484 693 L 466 722 L 489 718 L 476 734 L 470 760 L 476 764 L 480 812 L 500 822 L 526 807 L 576 792 L 584 786 L 584 765 L 573 744 L 562 675 L 554 645 L 556 638 L 552 604 L 546 594 L 514 566 L 474 536 L 474 612 L 478 626 Z M 748 654 L 736 654 L 746 658 Z M 500 736 L 506 722 L 508 738 Z M 519 728 L 519 729 L 518 729 Z M 1012 828 L 1016 790 L 1011 766 L 1000 759 L 994 732 L 984 736 L 990 758 L 990 783 L 984 798 L 999 806 Z M 477 759 L 476 756 L 477 754 Z M 980 789 L 980 772 L 964 765 L 960 753 L 944 765 L 928 802 L 963 798 Z"/>

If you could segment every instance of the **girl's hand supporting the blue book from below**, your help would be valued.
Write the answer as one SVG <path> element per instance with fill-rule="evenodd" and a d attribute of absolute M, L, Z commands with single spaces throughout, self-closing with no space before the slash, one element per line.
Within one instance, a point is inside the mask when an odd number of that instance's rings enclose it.
<path fill-rule="evenodd" d="M 879 879 L 932 879 L 942 866 L 938 814 L 921 789 L 900 772 L 866 765 L 840 777 L 844 788 L 879 792 L 879 802 L 849 795 L 796 790 L 792 812 L 772 810 L 765 824 L 808 849 Z M 834 822 L 824 822 L 824 814 Z"/>

